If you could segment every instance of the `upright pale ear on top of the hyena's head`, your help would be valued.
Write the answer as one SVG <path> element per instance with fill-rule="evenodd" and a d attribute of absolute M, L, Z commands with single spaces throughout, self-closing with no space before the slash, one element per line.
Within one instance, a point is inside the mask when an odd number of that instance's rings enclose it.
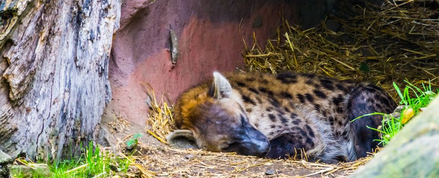
<path fill-rule="evenodd" d="M 230 98 L 232 95 L 232 86 L 226 77 L 219 72 L 213 72 L 213 83 L 209 89 L 209 96 L 214 99 Z"/>

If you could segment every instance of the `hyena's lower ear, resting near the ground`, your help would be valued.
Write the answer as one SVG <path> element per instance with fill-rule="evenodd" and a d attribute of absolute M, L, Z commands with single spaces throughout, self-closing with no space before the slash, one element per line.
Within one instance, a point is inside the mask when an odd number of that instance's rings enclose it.
<path fill-rule="evenodd" d="M 175 130 L 166 137 L 172 147 L 179 149 L 198 149 L 197 141 L 190 130 Z"/>

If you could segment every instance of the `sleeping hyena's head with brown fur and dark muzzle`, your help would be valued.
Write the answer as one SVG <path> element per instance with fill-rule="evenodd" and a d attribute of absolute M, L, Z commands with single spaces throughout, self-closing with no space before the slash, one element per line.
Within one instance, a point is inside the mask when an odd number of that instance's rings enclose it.
<path fill-rule="evenodd" d="M 209 90 L 206 88 L 208 84 L 192 88 L 177 101 L 175 120 L 181 130 L 168 135 L 169 144 L 265 156 L 270 142 L 250 124 L 239 94 L 232 91 L 229 81 L 214 72 Z"/>

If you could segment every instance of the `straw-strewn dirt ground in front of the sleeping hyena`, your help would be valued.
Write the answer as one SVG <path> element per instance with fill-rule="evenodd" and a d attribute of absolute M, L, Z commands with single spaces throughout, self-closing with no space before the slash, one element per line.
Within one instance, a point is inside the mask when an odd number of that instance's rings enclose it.
<path fill-rule="evenodd" d="M 203 150 L 181 150 L 169 147 L 150 136 L 145 128 L 118 120 L 108 124 L 114 150 L 125 150 L 125 142 L 142 133 L 139 146 L 131 157 L 137 169 L 128 177 L 347 177 L 367 157 L 336 165 L 309 163 L 305 160 L 274 160 L 234 153 L 212 153 Z"/>

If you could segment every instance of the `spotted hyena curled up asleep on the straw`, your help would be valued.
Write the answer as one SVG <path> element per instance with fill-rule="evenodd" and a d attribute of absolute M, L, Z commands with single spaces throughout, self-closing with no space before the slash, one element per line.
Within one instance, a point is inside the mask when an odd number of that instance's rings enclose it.
<path fill-rule="evenodd" d="M 175 107 L 179 129 L 171 144 L 193 143 L 213 152 L 285 158 L 303 149 L 312 160 L 353 161 L 371 152 L 378 115 L 396 103 L 380 87 L 314 74 L 213 73 L 182 94 Z M 183 140 L 183 141 L 182 141 Z"/>

